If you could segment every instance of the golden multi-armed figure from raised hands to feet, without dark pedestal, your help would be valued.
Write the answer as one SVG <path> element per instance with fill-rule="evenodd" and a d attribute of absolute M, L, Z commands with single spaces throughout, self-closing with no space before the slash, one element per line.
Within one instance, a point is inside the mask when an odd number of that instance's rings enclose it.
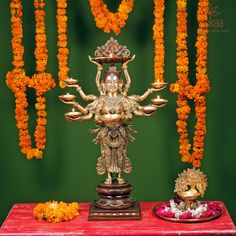
<path fill-rule="evenodd" d="M 116 43 L 111 39 L 109 45 Z M 104 49 L 103 49 L 104 50 Z M 108 59 L 111 62 L 117 60 L 114 51 L 109 50 L 110 54 Z M 116 58 L 116 59 L 115 59 Z M 86 95 L 82 88 L 78 84 L 71 83 L 70 79 L 65 80 L 67 87 L 76 88 L 81 98 L 90 102 L 86 107 L 82 107 L 77 102 L 65 101 L 63 96 L 61 100 L 66 104 L 71 104 L 79 112 L 69 112 L 65 114 L 65 117 L 69 121 L 83 121 L 90 120 L 94 117 L 97 129 L 91 130 L 92 133 L 97 133 L 97 137 L 94 142 L 101 145 L 101 156 L 98 158 L 97 173 L 99 175 L 107 172 L 106 184 L 112 183 L 113 173 L 118 174 L 117 181 L 119 184 L 124 183 L 124 179 L 121 176 L 122 171 L 130 173 L 132 171 L 130 159 L 127 157 L 127 144 L 129 141 L 133 141 L 130 124 L 126 124 L 126 121 L 132 120 L 133 115 L 138 116 L 151 116 L 155 114 L 158 107 L 166 105 L 167 101 L 157 105 L 141 106 L 138 102 L 144 101 L 151 93 L 159 91 L 162 88 L 149 88 L 142 96 L 128 95 L 131 79 L 128 73 L 128 63 L 135 58 L 126 57 L 122 64 L 126 83 L 124 84 L 120 78 L 120 71 L 112 64 L 105 72 L 105 79 L 101 81 L 101 74 L 103 70 L 102 64 L 96 60 L 98 58 L 89 59 L 92 63 L 97 65 L 96 85 L 99 91 L 99 96 Z M 101 57 L 99 58 L 102 60 Z M 72 80 L 74 81 L 74 80 Z M 66 95 L 65 95 L 66 96 Z M 164 100 L 164 99 L 163 99 Z M 75 113 L 75 114 L 73 114 Z"/>

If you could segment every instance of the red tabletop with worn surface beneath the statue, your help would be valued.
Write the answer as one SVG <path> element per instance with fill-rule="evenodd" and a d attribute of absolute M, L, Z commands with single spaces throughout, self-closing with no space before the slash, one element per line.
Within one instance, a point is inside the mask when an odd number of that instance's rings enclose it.
<path fill-rule="evenodd" d="M 142 220 L 88 221 L 89 203 L 80 203 L 80 215 L 69 222 L 35 220 L 35 203 L 15 204 L 0 229 L 0 235 L 236 235 L 235 225 L 223 202 L 222 215 L 201 223 L 176 223 L 157 218 L 152 209 L 158 202 L 141 202 Z"/>

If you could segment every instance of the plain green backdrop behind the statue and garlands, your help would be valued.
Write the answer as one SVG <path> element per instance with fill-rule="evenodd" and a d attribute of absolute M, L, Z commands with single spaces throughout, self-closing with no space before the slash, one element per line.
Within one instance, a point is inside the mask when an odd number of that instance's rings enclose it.
<path fill-rule="evenodd" d="M 130 93 L 142 94 L 153 80 L 153 1 L 135 1 L 125 28 L 119 36 L 106 34 L 96 28 L 87 0 L 68 0 L 68 37 L 70 75 L 79 79 L 85 92 L 96 93 L 96 67 L 88 60 L 97 46 L 111 36 L 127 45 L 136 59 L 129 65 L 132 77 Z M 106 0 L 115 10 L 120 1 Z M 113 2 L 113 3 L 112 3 Z M 115 2 L 115 3 L 114 3 Z M 190 72 L 194 81 L 196 4 L 189 1 Z M 14 118 L 14 95 L 6 86 L 5 75 L 12 69 L 10 0 L 0 2 L 0 221 L 3 222 L 11 206 L 17 202 L 48 200 L 88 202 L 96 198 L 95 187 L 105 176 L 96 174 L 99 147 L 88 133 L 94 122 L 67 122 L 64 113 L 70 110 L 58 96 L 70 91 L 59 87 L 47 93 L 47 148 L 41 160 L 26 160 L 18 146 L 18 130 Z M 209 79 L 207 94 L 207 130 L 202 171 L 208 178 L 205 200 L 221 200 L 236 220 L 236 109 L 235 0 L 211 0 L 209 33 Z M 28 75 L 35 72 L 33 0 L 23 0 L 24 46 Z M 46 0 L 46 24 L 49 48 L 47 71 L 57 78 L 56 1 Z M 176 5 L 166 1 L 165 12 L 165 80 L 176 80 Z M 30 128 L 35 128 L 35 94 L 28 89 Z M 72 92 L 72 91 L 71 91 Z M 138 131 L 136 141 L 130 143 L 128 153 L 133 172 L 126 176 L 134 186 L 133 197 L 139 201 L 166 201 L 175 194 L 174 180 L 188 164 L 180 161 L 176 131 L 176 95 L 169 89 L 161 92 L 169 100 L 166 108 L 155 117 L 135 118 L 133 128 Z M 79 97 L 79 96 L 78 96 Z M 148 102 L 144 103 L 147 104 Z M 84 103 L 83 103 L 84 104 Z M 193 132 L 194 113 L 189 128 Z"/>

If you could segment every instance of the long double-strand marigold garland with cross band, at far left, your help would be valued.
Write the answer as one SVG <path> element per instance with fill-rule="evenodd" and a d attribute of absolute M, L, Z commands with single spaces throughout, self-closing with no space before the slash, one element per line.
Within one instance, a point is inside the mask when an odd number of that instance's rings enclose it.
<path fill-rule="evenodd" d="M 22 44 L 23 27 L 22 27 L 22 2 L 21 0 L 11 0 L 11 23 L 12 23 L 12 51 L 13 51 L 13 65 L 15 68 L 7 73 L 7 85 L 15 94 L 16 109 L 15 118 L 17 121 L 17 127 L 19 129 L 19 145 L 21 152 L 26 154 L 27 159 L 33 157 L 42 158 L 45 149 L 46 142 L 46 130 L 47 123 L 46 99 L 43 94 L 55 86 L 55 82 L 52 79 L 51 74 L 45 73 L 47 65 L 47 48 L 46 48 L 46 34 L 44 23 L 44 1 L 35 0 L 35 17 L 36 17 L 36 70 L 37 74 L 34 74 L 30 79 L 25 75 L 24 66 L 24 46 Z M 36 90 L 36 105 L 37 110 L 37 125 L 34 132 L 36 147 L 31 145 L 31 137 L 28 130 L 28 113 L 27 113 L 27 86 Z"/>

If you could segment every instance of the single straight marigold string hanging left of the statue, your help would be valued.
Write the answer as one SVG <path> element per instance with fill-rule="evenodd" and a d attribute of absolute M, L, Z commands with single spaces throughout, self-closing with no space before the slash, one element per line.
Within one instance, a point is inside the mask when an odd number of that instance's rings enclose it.
<path fill-rule="evenodd" d="M 57 0 L 57 34 L 58 34 L 58 78 L 59 86 L 65 88 L 63 80 L 68 77 L 69 67 L 67 65 L 69 50 L 67 48 L 67 0 Z"/>

